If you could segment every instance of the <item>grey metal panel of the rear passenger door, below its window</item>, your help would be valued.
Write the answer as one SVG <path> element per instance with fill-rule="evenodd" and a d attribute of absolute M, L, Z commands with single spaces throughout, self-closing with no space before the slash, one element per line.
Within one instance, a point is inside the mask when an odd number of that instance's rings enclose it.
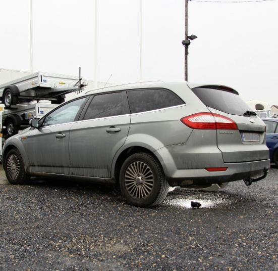
<path fill-rule="evenodd" d="M 121 130 L 106 132 L 110 126 Z M 110 178 L 110 165 L 124 145 L 129 127 L 130 114 L 74 123 L 70 131 L 71 174 Z"/>

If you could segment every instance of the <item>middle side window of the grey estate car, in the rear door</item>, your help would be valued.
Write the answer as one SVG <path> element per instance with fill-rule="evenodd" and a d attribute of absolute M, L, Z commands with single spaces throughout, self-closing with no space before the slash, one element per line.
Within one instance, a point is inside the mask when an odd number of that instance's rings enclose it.
<path fill-rule="evenodd" d="M 126 92 L 95 95 L 83 119 L 130 114 Z"/>

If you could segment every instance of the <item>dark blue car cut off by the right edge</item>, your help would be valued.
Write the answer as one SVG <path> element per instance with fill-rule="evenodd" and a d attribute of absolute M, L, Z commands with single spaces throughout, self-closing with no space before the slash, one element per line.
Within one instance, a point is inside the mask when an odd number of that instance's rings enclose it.
<path fill-rule="evenodd" d="M 278 167 L 278 119 L 263 119 L 266 125 L 266 145 L 269 149 L 270 163 Z"/>

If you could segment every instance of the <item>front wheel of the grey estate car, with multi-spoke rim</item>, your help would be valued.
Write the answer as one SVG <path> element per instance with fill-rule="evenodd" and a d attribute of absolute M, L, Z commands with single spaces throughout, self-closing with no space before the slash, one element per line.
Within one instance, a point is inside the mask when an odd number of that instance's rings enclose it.
<path fill-rule="evenodd" d="M 18 149 L 8 152 L 3 166 L 10 184 L 23 185 L 30 180 L 30 176 L 25 172 L 24 161 Z"/>

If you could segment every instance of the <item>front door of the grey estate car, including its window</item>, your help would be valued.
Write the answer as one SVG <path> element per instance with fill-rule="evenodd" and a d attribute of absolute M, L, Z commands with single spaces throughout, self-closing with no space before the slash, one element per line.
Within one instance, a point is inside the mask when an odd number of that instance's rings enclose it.
<path fill-rule="evenodd" d="M 70 175 L 69 131 L 86 97 L 45 116 L 27 138 L 30 171 Z"/>

